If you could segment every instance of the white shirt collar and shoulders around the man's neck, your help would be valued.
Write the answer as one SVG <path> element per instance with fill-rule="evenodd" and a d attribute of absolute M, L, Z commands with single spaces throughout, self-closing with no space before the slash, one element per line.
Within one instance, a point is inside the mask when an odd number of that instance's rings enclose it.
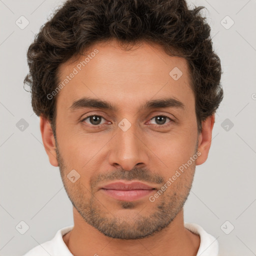
<path fill-rule="evenodd" d="M 196 256 L 217 256 L 218 255 L 218 242 L 212 235 L 208 234 L 201 226 L 194 223 L 184 223 L 186 229 L 200 236 L 200 246 Z M 23 256 L 73 256 L 62 236 L 69 232 L 72 226 L 66 226 L 59 229 L 55 236 L 40 245 L 30 249 Z"/>

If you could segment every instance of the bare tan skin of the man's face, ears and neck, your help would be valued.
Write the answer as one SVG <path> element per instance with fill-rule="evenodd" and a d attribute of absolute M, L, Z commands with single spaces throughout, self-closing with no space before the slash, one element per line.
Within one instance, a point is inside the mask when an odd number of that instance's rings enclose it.
<path fill-rule="evenodd" d="M 63 240 L 76 256 L 196 255 L 200 238 L 184 228 L 183 203 L 195 165 L 207 159 L 214 114 L 202 122 L 198 134 L 185 59 L 145 42 L 128 51 L 114 40 L 101 42 L 87 54 L 95 48 L 98 53 L 57 94 L 56 139 L 47 118 L 40 116 L 45 151 L 50 163 L 59 166 L 75 206 L 74 227 Z M 84 58 L 62 64 L 59 82 Z M 174 67 L 183 73 L 178 80 L 169 75 Z M 73 101 L 83 96 L 107 100 L 116 111 L 95 107 L 71 111 Z M 139 110 L 145 101 L 165 97 L 178 99 L 184 109 Z M 103 116 L 100 124 L 84 120 L 98 114 Z M 162 115 L 173 121 L 157 122 Z M 131 124 L 126 131 L 118 126 L 123 118 Z M 150 193 L 154 195 L 196 151 L 200 152 L 196 160 L 153 202 L 148 196 L 117 200 L 100 189 L 116 180 L 141 181 L 155 188 Z M 72 169 L 80 175 L 74 183 L 66 176 Z"/>

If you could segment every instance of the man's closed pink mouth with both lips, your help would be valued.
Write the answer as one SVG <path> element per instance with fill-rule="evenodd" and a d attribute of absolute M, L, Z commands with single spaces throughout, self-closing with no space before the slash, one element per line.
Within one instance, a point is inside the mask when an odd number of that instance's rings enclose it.
<path fill-rule="evenodd" d="M 104 194 L 117 200 L 134 201 L 152 193 L 156 188 L 141 182 L 113 182 L 100 188 Z"/>

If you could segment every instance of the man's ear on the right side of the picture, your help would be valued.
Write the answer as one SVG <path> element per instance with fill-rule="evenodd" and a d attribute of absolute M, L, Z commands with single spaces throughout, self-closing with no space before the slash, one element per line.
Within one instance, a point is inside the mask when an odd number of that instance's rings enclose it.
<path fill-rule="evenodd" d="M 198 136 L 198 147 L 197 151 L 201 154 L 197 157 L 195 163 L 200 165 L 204 163 L 208 157 L 208 152 L 211 144 L 211 133 L 213 124 L 215 121 L 215 114 L 208 116 L 204 121 L 202 121 L 202 130 Z"/>

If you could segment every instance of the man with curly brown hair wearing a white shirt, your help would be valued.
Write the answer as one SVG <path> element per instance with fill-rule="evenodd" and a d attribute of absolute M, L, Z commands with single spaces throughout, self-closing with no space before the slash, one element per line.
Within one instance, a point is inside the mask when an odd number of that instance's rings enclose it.
<path fill-rule="evenodd" d="M 24 82 L 74 225 L 26 256 L 218 254 L 183 220 L 223 97 L 201 8 L 68 0 L 41 27 Z"/>

